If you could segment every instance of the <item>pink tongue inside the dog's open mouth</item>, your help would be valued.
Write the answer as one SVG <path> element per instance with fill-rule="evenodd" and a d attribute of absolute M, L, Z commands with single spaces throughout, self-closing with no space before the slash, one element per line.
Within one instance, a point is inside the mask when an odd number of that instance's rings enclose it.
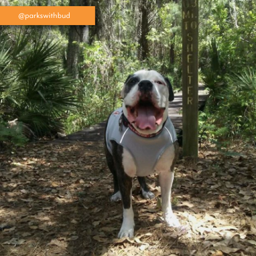
<path fill-rule="evenodd" d="M 141 106 L 138 109 L 138 116 L 135 119 L 135 124 L 139 129 L 156 130 L 155 110 L 153 106 Z"/>

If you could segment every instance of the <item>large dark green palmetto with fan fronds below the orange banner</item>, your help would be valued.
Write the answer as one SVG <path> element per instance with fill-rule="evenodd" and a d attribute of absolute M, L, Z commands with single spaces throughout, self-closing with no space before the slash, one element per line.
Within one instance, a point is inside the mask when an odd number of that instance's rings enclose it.
<path fill-rule="evenodd" d="M 22 35 L 21 31 L 14 42 L 6 39 L 6 44 L 0 45 L 3 120 L 17 119 L 35 136 L 60 131 L 67 111 L 77 105 L 73 95 L 76 82 L 62 69 L 60 47 L 47 38 Z"/>

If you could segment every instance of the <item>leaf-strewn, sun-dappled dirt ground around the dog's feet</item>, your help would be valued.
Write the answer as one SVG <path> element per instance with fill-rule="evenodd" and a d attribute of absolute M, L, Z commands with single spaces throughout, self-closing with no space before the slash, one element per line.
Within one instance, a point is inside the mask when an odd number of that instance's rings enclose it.
<path fill-rule="evenodd" d="M 183 230 L 162 223 L 134 182 L 134 240 L 116 239 L 122 205 L 98 142 L 35 143 L 0 154 L 0 255 L 256 255 L 256 154 L 200 151 L 179 160 L 173 189 Z"/>

